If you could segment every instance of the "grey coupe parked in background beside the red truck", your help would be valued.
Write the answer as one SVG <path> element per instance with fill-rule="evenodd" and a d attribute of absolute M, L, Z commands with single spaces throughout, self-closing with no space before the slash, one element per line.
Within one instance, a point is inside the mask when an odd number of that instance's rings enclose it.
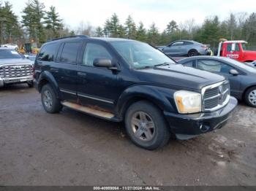
<path fill-rule="evenodd" d="M 211 55 L 211 49 L 207 45 L 189 40 L 178 40 L 157 48 L 169 56 Z"/>

